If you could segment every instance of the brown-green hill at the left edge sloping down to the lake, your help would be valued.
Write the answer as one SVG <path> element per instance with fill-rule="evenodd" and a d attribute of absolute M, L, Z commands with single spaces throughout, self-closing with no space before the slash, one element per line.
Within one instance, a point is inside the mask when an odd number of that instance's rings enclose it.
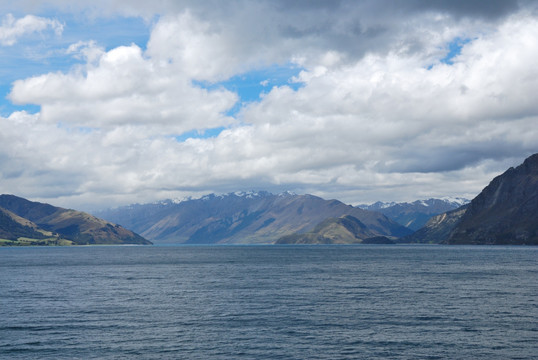
<path fill-rule="evenodd" d="M 90 214 L 14 195 L 0 195 L 0 239 L 56 245 L 151 244 L 132 231 Z"/>

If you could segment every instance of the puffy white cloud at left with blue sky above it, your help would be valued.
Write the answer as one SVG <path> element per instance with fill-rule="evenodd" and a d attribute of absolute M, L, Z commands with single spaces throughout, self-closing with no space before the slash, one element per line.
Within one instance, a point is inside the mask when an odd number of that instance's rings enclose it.
<path fill-rule="evenodd" d="M 80 47 L 75 44 L 69 52 Z M 39 104 L 41 119 L 50 123 L 92 128 L 148 124 L 154 135 L 233 122 L 224 113 L 237 101 L 235 94 L 195 87 L 189 74 L 145 56 L 135 44 L 108 52 L 83 47 L 82 53 L 89 61 L 86 66 L 18 80 L 10 99 Z"/>

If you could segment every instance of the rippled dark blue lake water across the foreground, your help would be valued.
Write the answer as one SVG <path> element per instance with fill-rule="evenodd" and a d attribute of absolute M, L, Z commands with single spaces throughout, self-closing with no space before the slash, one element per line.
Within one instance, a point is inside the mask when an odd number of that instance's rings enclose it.
<path fill-rule="evenodd" d="M 0 358 L 536 359 L 538 248 L 0 248 Z"/>

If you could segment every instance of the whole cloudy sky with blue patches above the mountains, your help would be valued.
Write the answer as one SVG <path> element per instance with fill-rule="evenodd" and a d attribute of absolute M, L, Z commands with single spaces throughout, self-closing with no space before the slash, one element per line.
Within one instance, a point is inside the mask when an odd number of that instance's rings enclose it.
<path fill-rule="evenodd" d="M 538 152 L 538 4 L 0 0 L 0 193 L 475 197 Z"/>

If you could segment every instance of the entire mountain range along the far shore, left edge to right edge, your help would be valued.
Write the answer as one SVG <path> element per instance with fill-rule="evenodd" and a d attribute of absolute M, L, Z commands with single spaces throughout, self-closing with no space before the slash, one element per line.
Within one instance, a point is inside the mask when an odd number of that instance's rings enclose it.
<path fill-rule="evenodd" d="M 470 202 L 353 207 L 261 191 L 135 204 L 94 215 L 0 195 L 0 245 L 149 244 L 145 238 L 186 244 L 538 245 L 538 154 L 495 177 Z"/>

